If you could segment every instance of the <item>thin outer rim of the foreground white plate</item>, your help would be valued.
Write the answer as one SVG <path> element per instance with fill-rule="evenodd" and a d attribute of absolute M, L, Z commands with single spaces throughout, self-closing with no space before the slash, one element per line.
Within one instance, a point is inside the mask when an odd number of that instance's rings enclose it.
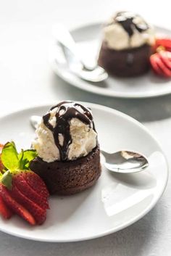
<path fill-rule="evenodd" d="M 77 101 L 78 102 L 78 101 Z M 79 101 L 80 102 L 80 101 Z M 88 106 L 92 106 L 98 110 L 106 110 L 107 112 L 111 112 L 111 113 L 114 113 L 114 115 L 117 115 L 117 116 L 120 116 L 120 117 L 124 117 L 124 119 L 128 120 L 129 122 L 131 123 L 134 123 L 135 125 L 137 125 L 139 128 L 141 128 L 143 131 L 145 131 L 146 133 L 149 134 L 149 136 L 151 136 L 151 139 L 153 139 L 155 141 L 155 143 L 157 144 L 157 146 L 159 147 L 160 149 L 160 152 L 162 152 L 162 155 L 164 157 L 164 162 L 165 162 L 165 165 L 166 165 L 166 180 L 164 182 L 164 186 L 160 192 L 160 194 L 158 195 L 158 197 L 153 201 L 151 202 L 151 204 L 141 212 L 141 214 L 135 216 L 135 218 L 133 218 L 131 221 L 128 220 L 126 223 L 118 226 L 117 228 L 110 228 L 108 229 L 107 231 L 104 231 L 104 232 L 101 232 L 100 234 L 97 234 L 97 235 L 93 235 L 93 236 L 86 236 L 86 237 L 83 237 L 83 238 L 80 238 L 80 239 L 40 239 L 38 237 L 33 237 L 33 236 L 28 236 L 28 235 L 24 235 L 23 234 L 17 234 L 16 232 L 12 232 L 12 231 L 6 231 L 4 228 L 1 228 L 0 226 L 0 231 L 6 233 L 6 234 L 9 234 L 9 235 L 12 235 L 12 236 L 16 236 L 16 237 L 20 237 L 22 239 L 28 239 L 28 240 L 32 240 L 32 241 L 42 241 L 42 242 L 56 242 L 56 243 L 65 243 L 65 242 L 75 242 L 75 241 L 88 241 L 88 240 L 91 240 L 91 239 L 97 239 L 97 238 L 100 238 L 100 237 L 103 237 L 103 236 L 107 236 L 109 234 L 114 234 L 116 233 L 117 231 L 120 231 L 124 228 L 127 228 L 128 226 L 132 225 L 133 223 L 137 222 L 138 220 L 141 220 L 141 218 L 143 218 L 148 212 L 150 212 L 152 210 L 152 208 L 157 204 L 157 202 L 159 201 L 159 199 L 162 197 L 162 194 L 164 193 L 166 187 L 167 187 L 167 182 L 168 182 L 168 178 L 169 178 L 169 162 L 167 160 L 167 157 L 162 149 L 162 146 L 161 144 L 159 143 L 159 141 L 154 137 L 154 135 L 151 133 L 151 131 L 149 131 L 148 128 L 146 128 L 145 125 L 143 125 L 142 123 L 140 123 L 138 120 L 135 120 L 135 118 L 133 117 L 130 117 L 130 115 L 127 115 L 123 112 L 120 112 L 119 110 L 115 110 L 115 109 L 112 109 L 111 107 L 107 107 L 107 106 L 104 106 L 104 105 L 101 105 L 101 104 L 95 104 L 95 103 L 91 103 L 91 102 L 80 102 L 82 104 L 87 104 Z M 53 102 L 52 102 L 53 104 Z M 10 113 L 8 113 L 7 115 L 2 115 L 0 117 L 0 123 L 1 123 L 1 120 L 3 118 L 8 118 L 10 117 L 10 115 L 17 115 L 22 112 L 25 112 L 25 111 L 31 111 L 31 110 L 36 110 L 36 109 L 41 109 L 43 107 L 47 107 L 47 109 L 49 107 L 51 107 L 51 103 L 49 104 L 40 104 L 40 105 L 36 105 L 36 106 L 31 106 L 31 107 L 25 107 L 21 110 L 17 110 L 17 111 L 12 111 Z"/>

